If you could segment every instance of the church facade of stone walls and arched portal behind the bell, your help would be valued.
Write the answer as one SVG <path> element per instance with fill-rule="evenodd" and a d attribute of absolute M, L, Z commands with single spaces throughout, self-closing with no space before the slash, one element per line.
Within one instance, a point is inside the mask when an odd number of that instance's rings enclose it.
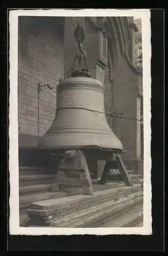
<path fill-rule="evenodd" d="M 31 157 L 52 124 L 57 108 L 57 85 L 68 77 L 78 48 L 74 31 L 78 17 L 20 16 L 18 20 L 18 137 L 20 165 Z M 143 174 L 141 159 L 142 71 L 135 67 L 133 17 L 80 19 L 86 37 L 83 48 L 92 78 L 104 84 L 109 125 L 122 141 L 128 169 Z M 39 90 L 39 85 L 51 87 Z M 52 90 L 50 90 L 52 89 Z M 37 154 L 38 155 L 38 154 Z M 24 159 L 28 159 L 24 160 Z M 36 160 L 38 156 L 35 157 Z M 42 159 L 39 159 L 42 162 Z M 32 163 L 34 164 L 34 163 Z M 41 163 L 42 164 L 42 163 Z M 93 163 L 100 178 L 104 162 Z"/>

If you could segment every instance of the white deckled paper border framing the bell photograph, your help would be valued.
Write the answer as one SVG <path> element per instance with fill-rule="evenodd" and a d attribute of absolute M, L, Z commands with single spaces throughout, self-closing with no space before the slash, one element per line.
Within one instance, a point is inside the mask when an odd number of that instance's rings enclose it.
<path fill-rule="evenodd" d="M 18 16 L 134 16 L 141 18 L 143 54 L 143 226 L 129 228 L 53 228 L 19 227 L 19 166 L 18 166 Z M 10 31 L 10 95 L 9 95 L 9 174 L 10 234 L 71 235 L 71 234 L 152 234 L 151 186 L 151 25 L 148 9 L 84 9 L 84 10 L 11 10 Z"/>

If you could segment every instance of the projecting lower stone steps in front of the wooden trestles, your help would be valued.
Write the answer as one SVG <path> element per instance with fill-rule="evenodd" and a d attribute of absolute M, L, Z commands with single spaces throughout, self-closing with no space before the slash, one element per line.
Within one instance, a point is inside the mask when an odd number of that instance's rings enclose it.
<path fill-rule="evenodd" d="M 105 223 L 107 227 L 108 223 L 119 227 L 140 222 L 142 206 L 142 186 L 123 184 L 94 191 L 93 196 L 76 195 L 34 202 L 27 213 L 31 225 L 36 227 L 101 227 Z M 119 217 L 125 222 L 119 221 Z"/>

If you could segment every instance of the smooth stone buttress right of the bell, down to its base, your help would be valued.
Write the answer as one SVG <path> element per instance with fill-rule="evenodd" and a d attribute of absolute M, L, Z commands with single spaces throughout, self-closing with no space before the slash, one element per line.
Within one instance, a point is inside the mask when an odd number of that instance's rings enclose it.
<path fill-rule="evenodd" d="M 113 108 L 118 113 L 123 113 L 123 118 L 117 120 L 117 135 L 127 152 L 123 154 L 123 160 L 127 168 L 135 170 L 135 173 L 142 172 L 140 121 L 137 120 L 140 119 L 140 110 L 137 110 L 138 79 L 139 74 L 130 66 L 126 56 L 121 55 L 120 66 L 113 72 Z"/>

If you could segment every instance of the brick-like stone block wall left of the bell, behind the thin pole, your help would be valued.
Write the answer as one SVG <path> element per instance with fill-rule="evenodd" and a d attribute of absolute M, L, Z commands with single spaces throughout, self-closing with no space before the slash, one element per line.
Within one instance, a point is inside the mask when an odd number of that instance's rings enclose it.
<path fill-rule="evenodd" d="M 43 136 L 54 120 L 56 86 L 64 75 L 63 35 L 50 17 L 38 17 L 38 22 L 30 28 L 25 56 L 21 53 L 22 39 L 25 38 L 21 37 L 18 24 L 19 135 L 38 135 L 38 82 L 41 82 L 54 88 L 39 94 L 39 136 Z"/>

